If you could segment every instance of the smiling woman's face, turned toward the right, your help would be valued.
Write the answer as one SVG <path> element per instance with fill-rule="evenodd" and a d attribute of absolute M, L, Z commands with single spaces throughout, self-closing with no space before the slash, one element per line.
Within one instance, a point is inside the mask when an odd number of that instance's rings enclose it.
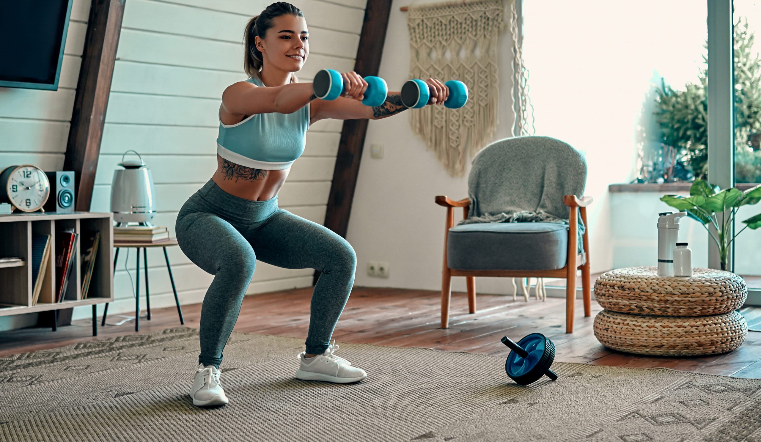
<path fill-rule="evenodd" d="M 272 19 L 264 40 L 256 37 L 265 64 L 285 72 L 297 72 L 309 54 L 309 32 L 304 17 L 285 14 Z"/>

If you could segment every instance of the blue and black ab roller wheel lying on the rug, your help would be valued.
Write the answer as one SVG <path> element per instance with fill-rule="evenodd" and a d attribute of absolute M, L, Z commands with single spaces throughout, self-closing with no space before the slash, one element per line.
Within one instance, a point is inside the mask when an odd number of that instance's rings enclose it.
<path fill-rule="evenodd" d="M 505 336 L 502 343 L 512 350 L 505 362 L 505 371 L 515 382 L 527 385 L 544 375 L 551 380 L 558 378 L 558 375 L 549 369 L 555 360 L 555 344 L 545 335 L 531 333 L 517 344 Z"/>

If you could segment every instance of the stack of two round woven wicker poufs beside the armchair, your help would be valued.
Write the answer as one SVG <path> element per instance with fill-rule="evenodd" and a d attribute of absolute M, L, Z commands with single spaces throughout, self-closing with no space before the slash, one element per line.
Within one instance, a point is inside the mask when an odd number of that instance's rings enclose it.
<path fill-rule="evenodd" d="M 656 267 L 604 273 L 594 297 L 605 309 L 594 335 L 606 347 L 638 355 L 716 355 L 740 347 L 748 326 L 738 308 L 745 281 L 731 272 L 693 269 L 691 277 L 664 278 Z"/>

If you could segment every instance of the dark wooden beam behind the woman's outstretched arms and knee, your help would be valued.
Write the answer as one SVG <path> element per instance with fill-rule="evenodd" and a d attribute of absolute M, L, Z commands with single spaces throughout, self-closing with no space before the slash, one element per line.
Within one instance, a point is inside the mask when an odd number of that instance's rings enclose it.
<path fill-rule="evenodd" d="M 368 0 L 354 64 L 354 71 L 362 77 L 378 75 L 390 11 L 391 0 Z M 324 224 L 342 237 L 346 237 L 346 227 L 352 213 L 359 161 L 367 131 L 367 119 L 347 119 L 343 122 Z M 313 285 L 317 284 L 319 277 L 320 272 L 314 272 Z"/>

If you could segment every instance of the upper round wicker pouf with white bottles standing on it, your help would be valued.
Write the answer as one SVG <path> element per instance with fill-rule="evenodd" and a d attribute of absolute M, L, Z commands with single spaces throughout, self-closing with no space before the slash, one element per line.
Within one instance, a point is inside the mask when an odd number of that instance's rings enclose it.
<path fill-rule="evenodd" d="M 693 276 L 664 278 L 656 267 L 632 267 L 603 273 L 594 297 L 606 310 L 656 316 L 706 316 L 737 310 L 748 297 L 740 276 L 714 269 L 693 269 Z"/>

